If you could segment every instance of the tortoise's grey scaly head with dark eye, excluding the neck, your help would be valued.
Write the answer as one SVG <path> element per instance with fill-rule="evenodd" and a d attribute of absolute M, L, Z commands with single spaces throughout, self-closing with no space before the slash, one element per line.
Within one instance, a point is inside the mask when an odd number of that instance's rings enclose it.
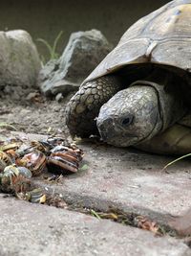
<path fill-rule="evenodd" d="M 159 95 L 152 86 L 135 85 L 102 105 L 96 125 L 104 141 L 119 147 L 136 145 L 162 128 Z"/>

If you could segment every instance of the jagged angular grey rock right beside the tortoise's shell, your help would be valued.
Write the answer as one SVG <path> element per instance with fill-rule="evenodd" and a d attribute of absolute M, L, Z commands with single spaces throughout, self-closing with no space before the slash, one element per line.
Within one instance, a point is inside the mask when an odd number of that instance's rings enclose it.
<path fill-rule="evenodd" d="M 38 85 L 46 95 L 77 90 L 111 49 L 97 30 L 73 33 L 61 58 L 49 61 L 40 71 Z"/>

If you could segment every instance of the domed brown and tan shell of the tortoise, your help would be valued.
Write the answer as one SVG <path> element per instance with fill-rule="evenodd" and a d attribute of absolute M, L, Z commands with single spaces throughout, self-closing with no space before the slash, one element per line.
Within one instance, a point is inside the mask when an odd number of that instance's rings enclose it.
<path fill-rule="evenodd" d="M 172 1 L 139 19 L 82 84 L 140 63 L 191 72 L 191 0 Z"/>

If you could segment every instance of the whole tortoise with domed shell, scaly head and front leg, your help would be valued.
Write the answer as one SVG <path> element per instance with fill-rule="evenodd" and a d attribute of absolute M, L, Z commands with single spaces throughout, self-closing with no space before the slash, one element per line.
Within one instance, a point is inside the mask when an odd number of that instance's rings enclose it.
<path fill-rule="evenodd" d="M 66 106 L 72 134 L 117 147 L 191 151 L 191 0 L 140 18 Z"/>

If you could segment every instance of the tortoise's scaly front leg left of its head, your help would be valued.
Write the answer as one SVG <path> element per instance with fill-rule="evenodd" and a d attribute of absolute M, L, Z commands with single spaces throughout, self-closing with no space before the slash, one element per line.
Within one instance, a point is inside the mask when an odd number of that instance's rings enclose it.
<path fill-rule="evenodd" d="M 121 87 L 116 76 L 101 77 L 82 85 L 66 107 L 66 124 L 71 135 L 84 138 L 98 134 L 95 119 L 99 109 Z"/>

